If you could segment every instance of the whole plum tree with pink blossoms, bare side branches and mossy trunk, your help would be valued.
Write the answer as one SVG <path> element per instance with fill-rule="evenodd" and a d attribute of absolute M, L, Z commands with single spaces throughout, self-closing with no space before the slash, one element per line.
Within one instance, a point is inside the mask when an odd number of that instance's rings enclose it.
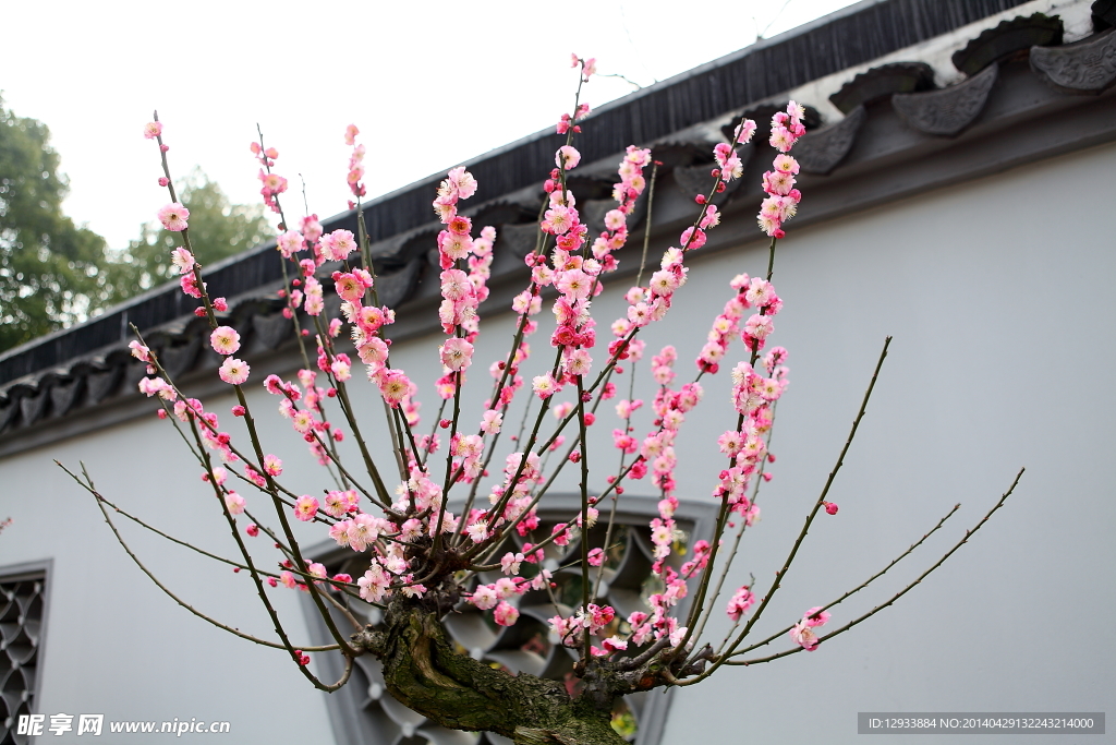
<path fill-rule="evenodd" d="M 434 426 L 426 433 L 420 431 L 419 389 L 404 370 L 392 364 L 386 329 L 395 314 L 377 298 L 360 207 L 365 195 L 365 146 L 356 142 L 357 127 L 349 126 L 345 133 L 346 143 L 353 147 L 347 181 L 358 214 L 356 235 L 347 230 L 326 233 L 314 214 L 304 217 L 297 227 L 289 221 L 281 204 L 287 181 L 272 170 L 278 152 L 262 141 L 252 143 L 260 163 L 264 203 L 280 221 L 278 250 L 285 271 L 289 269 L 282 290 L 287 299 L 285 313 L 297 329 L 309 331 L 298 335 L 299 343 L 314 342 L 312 347 L 302 350 L 306 365 L 297 380 L 275 374 L 261 378 L 235 356 L 240 336 L 221 324 L 225 300 L 210 297 L 206 292 L 191 243 L 190 213 L 177 203 L 171 181 L 163 126 L 156 116 L 145 128 L 146 136 L 160 145 L 163 183 L 171 198 L 160 210 L 160 220 L 182 238 L 171 261 L 182 290 L 200 300 L 196 312 L 209 319 L 212 348 L 224 356 L 219 375 L 237 398 L 231 413 L 242 421 L 244 436 L 233 438 L 215 411 L 184 395 L 142 337 L 132 343 L 135 356 L 148 365 L 148 376 L 140 388 L 158 400 L 160 416 L 179 428 L 190 445 L 239 552 L 237 558 L 211 557 L 248 574 L 277 636 L 251 637 L 215 619 L 202 618 L 256 643 L 282 650 L 302 676 L 326 691 L 346 684 L 357 657 L 375 656 L 383 665 L 388 693 L 404 705 L 446 727 L 494 732 L 523 745 L 622 743 L 624 738 L 610 726 L 609 715 L 613 704 L 624 696 L 694 685 L 727 665 L 756 665 L 817 650 L 914 588 L 963 545 L 1011 494 L 1009 489 L 936 563 L 869 612 L 831 628 L 831 609 L 911 554 L 942 527 L 956 507 L 862 584 L 825 605 L 806 610 L 777 633 L 754 639 L 752 629 L 790 571 L 812 522 L 822 512 L 838 512 L 828 498 L 830 486 L 865 414 L 887 343 L 837 462 L 796 541 L 778 564 L 773 581 L 764 588 L 754 581 L 740 588 L 725 586 L 742 535 L 759 517 L 758 493 L 770 478 L 768 465 L 775 460 L 769 443 L 776 403 L 788 384 L 788 353 L 779 346 L 769 348 L 768 341 L 783 304 L 772 285 L 776 246 L 802 198 L 795 187 L 798 163 L 791 152 L 805 133 L 805 113 L 791 102 L 771 121 L 770 144 L 778 155 L 763 174 L 767 197 L 757 218 L 759 228 L 770 237 L 766 274 L 741 274 L 729 283 L 724 309 L 713 319 L 708 342 L 686 382 L 676 384 L 680 371 L 673 346 L 648 355 L 651 375 L 657 384 L 650 407 L 653 424 L 648 431 L 637 432 L 633 416 L 645 403 L 631 394 L 617 400 L 620 426 L 613 430 L 612 439 L 619 459 L 615 468 L 608 468 L 599 449 L 589 448 L 588 430 L 597 420 L 598 407 L 617 397 L 624 367 L 629 376 L 634 375 L 644 359 L 641 331 L 662 322 L 683 290 L 689 258 L 720 222 L 715 195 L 742 175 L 739 147 L 752 139 L 756 123 L 742 120 L 731 141 L 716 145 L 709 189 L 694 198 L 693 225 L 680 236 L 676 247 L 663 254 L 657 267 L 646 271 L 641 267 L 635 286 L 625 295 L 626 314 L 598 331 L 591 314 L 593 298 L 617 268 L 615 254 L 631 237 L 627 221 L 637 201 L 650 191 L 655 163 L 650 150 L 634 145 L 627 149 L 617 168 L 613 192 L 616 207 L 605 217 L 605 230 L 590 236 L 568 176 L 580 161 L 576 135 L 581 126 L 591 124 L 581 123 L 588 106 L 580 102 L 580 92 L 595 63 L 575 56 L 574 66 L 579 70 L 578 94 L 573 113 L 564 114 L 557 126 L 566 142 L 557 149 L 554 169 L 543 181 L 546 200 L 540 209 L 537 246 L 526 257 L 527 287 L 511 305 L 514 336 L 508 354 L 489 367 L 492 382 L 480 421 L 469 421 L 462 414 L 462 392 L 480 333 L 478 307 L 489 294 L 487 280 L 496 231 L 491 227 L 477 230 L 461 211 L 478 185 L 464 168 L 450 171 L 437 190 L 433 209 L 444 226 L 437 237 L 442 295 L 439 318 L 444 340 L 437 348 L 442 375 L 436 394 L 441 402 Z M 340 300 L 340 316 L 336 318 L 325 314 L 324 298 L 330 283 Z M 541 327 L 535 316 L 543 305 L 550 306 L 556 319 L 548 340 L 552 353 L 538 366 L 537 374 L 530 375 L 528 340 Z M 344 351 L 349 348 L 340 337 L 345 328 L 356 361 Z M 607 341 L 598 340 L 598 333 L 607 334 Z M 715 524 L 711 535 L 689 546 L 684 563 L 675 569 L 667 561 L 679 531 L 675 445 L 683 437 L 687 417 L 696 416 L 693 412 L 703 399 L 703 381 L 728 364 L 730 346 L 738 337 L 743 356 L 730 372 L 735 422 L 718 440 L 723 468 L 711 475 Z M 394 443 L 393 462 L 385 464 L 374 456 L 354 416 L 354 397 L 366 394 L 357 393 L 357 365 L 363 366 L 371 390 L 383 400 Z M 324 489 L 321 499 L 289 490 L 281 480 L 282 460 L 264 451 L 244 393 L 253 379 L 276 398 L 280 414 L 309 446 L 326 478 L 336 486 Z M 556 394 L 562 390 L 574 393 L 573 402 L 556 403 Z M 519 436 L 508 438 L 513 451 L 501 457 L 498 446 L 506 434 L 509 408 L 517 398 L 526 405 L 525 426 Z M 548 412 L 557 417 L 550 431 L 543 427 Z M 335 423 L 337 418 L 343 423 Z M 356 442 L 362 461 L 358 466 L 340 456 L 337 443 L 345 438 Z M 552 452 L 564 455 L 548 459 Z M 397 470 L 397 475 L 389 476 L 387 468 Z M 545 531 L 539 510 L 556 476 L 565 469 L 574 471 L 578 480 L 579 507 Z M 71 476 L 95 495 L 106 519 L 115 509 L 147 526 L 107 502 L 88 475 Z M 602 595 L 597 589 L 617 529 L 617 505 L 625 489 L 636 481 L 650 483 L 660 497 L 657 515 L 647 528 L 654 547 L 652 573 L 660 591 L 650 594 L 644 610 L 622 618 L 614 608 L 598 602 Z M 258 496 L 246 498 L 234 487 Z M 273 509 L 270 525 L 262 513 L 250 510 L 260 505 Z M 296 539 L 292 520 L 319 526 L 339 546 L 362 556 L 367 570 L 356 577 L 330 575 L 323 564 L 306 555 Z M 597 523 L 606 525 L 604 546 L 591 547 L 589 541 L 580 541 L 576 562 L 580 598 L 575 608 L 561 612 L 554 599 L 555 577 L 542 560 L 548 548 L 570 545 Z M 116 532 L 115 526 L 113 529 Z M 250 539 L 261 533 L 268 546 L 273 545 L 278 552 L 273 561 L 261 560 L 263 552 L 250 548 Z M 116 535 L 119 538 L 119 533 Z M 512 535 L 522 543 L 509 550 L 508 538 Z M 482 582 L 482 573 L 500 573 L 502 577 Z M 280 584 L 307 593 L 328 628 L 330 643 L 310 647 L 288 637 L 270 595 L 272 589 L 280 591 Z M 574 674 L 578 682 L 573 688 L 493 669 L 461 653 L 446 633 L 445 615 L 463 604 L 491 613 L 498 625 L 516 623 L 517 598 L 527 592 L 551 593 L 556 609 L 550 619 L 551 638 L 577 653 Z M 348 610 L 354 602 L 381 609 L 383 622 L 375 627 L 359 623 Z M 732 624 L 720 642 L 706 638 L 715 613 L 724 613 Z M 338 619 L 353 628 L 344 629 Z M 787 642 L 782 651 L 759 651 L 779 640 Z M 339 655 L 345 672 L 335 681 L 320 680 L 309 667 L 311 653 Z"/>

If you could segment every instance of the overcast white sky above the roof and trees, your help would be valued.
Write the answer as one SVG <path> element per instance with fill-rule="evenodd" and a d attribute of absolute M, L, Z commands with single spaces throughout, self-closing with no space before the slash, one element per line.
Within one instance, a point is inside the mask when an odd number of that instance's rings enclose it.
<path fill-rule="evenodd" d="M 571 51 L 650 85 L 853 2 L 10 2 L 0 90 L 50 127 L 67 213 L 122 248 L 166 202 L 142 136 L 152 109 L 176 178 L 196 164 L 234 202 L 259 200 L 259 123 L 276 171 L 296 190 L 301 173 L 326 217 L 346 207 L 349 123 L 375 197 L 551 126 L 571 105 Z M 632 89 L 597 78 L 583 99 Z"/>

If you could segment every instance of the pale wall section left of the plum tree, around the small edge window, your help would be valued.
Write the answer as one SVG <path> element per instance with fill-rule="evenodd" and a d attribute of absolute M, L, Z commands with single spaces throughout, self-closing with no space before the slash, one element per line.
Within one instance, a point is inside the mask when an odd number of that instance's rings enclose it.
<path fill-rule="evenodd" d="M 228 405 L 214 409 L 228 412 Z M 237 639 L 164 595 L 116 543 L 93 497 L 51 459 L 71 469 L 85 461 L 105 497 L 122 508 L 203 548 L 235 556 L 212 490 L 199 480 L 201 469 L 191 466 L 177 434 L 154 413 L 7 458 L 0 465 L 0 512 L 13 523 L 0 537 L 0 567 L 54 560 L 35 709 L 48 716 L 104 714 L 106 723 L 229 722 L 231 734 L 223 737 L 237 743 L 323 742 L 329 726 L 324 699 L 285 652 Z M 250 506 L 262 507 L 259 500 Z M 233 574 L 125 519 L 119 527 L 160 580 L 199 611 L 275 638 L 247 574 Z M 261 541 L 256 545 L 262 548 Z M 299 599 L 291 591 L 271 595 L 294 640 L 307 643 Z M 75 729 L 76 724 L 75 718 Z M 144 736 L 115 737 L 140 742 Z M 67 738 L 85 736 L 47 733 L 39 739 Z M 104 739 L 114 742 L 107 724 Z"/>

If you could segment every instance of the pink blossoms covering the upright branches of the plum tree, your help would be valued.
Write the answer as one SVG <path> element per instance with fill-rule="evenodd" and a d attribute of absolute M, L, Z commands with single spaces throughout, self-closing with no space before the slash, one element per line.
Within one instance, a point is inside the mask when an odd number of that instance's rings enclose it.
<path fill-rule="evenodd" d="M 580 67 L 583 80 L 595 71 L 593 59 L 575 56 L 574 65 Z M 764 466 L 775 460 L 767 447 L 775 403 L 788 384 L 787 352 L 782 347 L 775 347 L 762 357 L 760 365 L 757 364 L 773 332 L 773 317 L 782 307 L 770 276 L 739 275 L 731 280 L 733 294 L 708 332 L 695 360 L 698 371 L 692 380 L 675 385 L 679 352 L 674 346 L 664 346 L 657 354 L 650 355 L 650 372 L 657 390 L 647 404 L 631 393 L 615 404 L 616 414 L 623 421 L 612 432 L 613 445 L 620 451 L 620 467 L 608 477 L 606 488 L 600 485 L 603 490 L 589 491 L 586 486 L 577 514 L 552 525 L 549 535 L 539 535 L 546 531 L 538 504 L 558 470 L 567 464 L 585 466 L 590 456 L 597 457 L 589 451 L 588 442 L 583 440 L 586 436 L 580 432 L 597 420 L 595 404 L 615 398 L 616 384 L 609 379 L 624 373 L 622 363 L 635 367 L 643 361 L 645 343 L 637 335 L 666 315 L 675 294 L 686 284 L 686 260 L 706 243 L 709 231 L 719 226 L 721 211 L 715 203 L 716 195 L 727 191 L 727 184 L 733 179 L 742 176 L 743 162 L 738 149 L 750 142 L 756 124 L 742 121 L 731 142 L 714 147 L 716 168 L 711 173 L 709 193 L 694 197 L 699 209 L 693 223 L 681 232 L 676 246 L 662 254 L 646 283 L 625 293 L 627 307 L 608 327 L 612 337 L 607 350 L 602 352 L 597 351 L 593 300 L 604 290 L 605 275 L 618 268 L 616 254 L 627 243 L 638 200 L 648 187 L 646 171 L 654 169 L 656 163 L 648 149 L 633 145 L 625 151 L 613 185 L 616 204 L 604 214 L 603 229 L 590 235 L 590 227 L 569 184 L 570 172 L 581 163 L 581 153 L 573 144 L 574 135 L 580 132 L 577 122 L 588 112 L 588 105 L 578 103 L 574 113 L 564 114 L 558 124 L 558 133 L 567 135 L 567 140 L 556 149 L 554 168 L 541 184 L 545 203 L 538 247 L 525 257 L 528 285 L 511 303 L 518 317 L 514 342 L 507 357 L 489 366 L 494 384 L 491 395 L 484 400 L 475 431 L 464 429 L 456 411 L 475 354 L 479 307 L 490 294 L 488 281 L 497 235 L 492 227 L 475 231 L 472 218 L 461 211 L 462 202 L 478 191 L 473 175 L 464 168 L 451 170 L 432 202 L 442 226 L 436 248 L 439 321 L 444 334 L 437 348 L 441 375 L 435 386 L 442 399 L 441 411 L 452 400 L 455 413 L 452 419 L 442 419 L 440 411 L 430 433 L 417 434 L 419 388 L 403 370 L 392 366 L 391 341 L 385 337 L 385 327 L 394 323 L 395 312 L 381 305 L 377 298 L 368 247 L 366 242 L 362 245 L 366 232 L 354 235 L 345 229 L 326 232 L 317 214 L 301 218 L 297 229 L 291 227 L 279 202 L 280 194 L 287 190 L 287 181 L 271 171 L 278 152 L 252 143 L 251 151 L 261 165 L 259 178 L 264 203 L 282 220 L 277 250 L 285 268 L 292 267 L 295 273 L 280 290 L 286 306 L 283 314 L 299 331 L 299 343 L 310 361 L 308 369 L 298 371 L 291 380 L 268 375 L 262 385 L 278 398 L 281 417 L 309 446 L 317 461 L 330 469 L 337 488 L 318 496 L 296 496 L 280 489 L 277 479 L 283 472 L 282 460 L 272 453 L 246 456 L 237 450 L 231 436 L 219 428 L 217 414 L 206 411 L 201 402 L 184 398 L 161 373 L 150 348 L 134 343 L 133 353 L 150 365 L 152 375 L 141 382 L 141 390 L 158 397 L 164 403 L 165 417 L 173 416 L 174 420 L 190 424 L 202 445 L 218 453 L 223 465 L 206 468 L 204 477 L 221 495 L 230 519 L 247 509 L 246 498 L 231 488 L 231 475 L 269 495 L 296 519 L 324 525 L 338 546 L 362 554 L 368 562 L 368 569 L 355 581 L 340 574 L 328 580 L 323 565 L 295 560 L 277 538 L 276 547 L 285 555 L 279 562 L 281 571 L 268 576 L 271 586 L 281 583 L 307 591 L 328 581 L 372 603 L 383 604 L 397 595 L 421 598 L 441 591 L 440 567 L 431 569 L 431 557 L 436 552 L 432 546 L 437 546 L 444 547 L 443 555 L 452 555 L 460 566 L 472 573 L 461 581 L 460 596 L 481 611 L 492 612 L 497 624 L 511 625 L 519 617 L 519 598 L 530 591 L 554 588 L 554 575 L 542 566 L 546 550 L 551 545 L 568 546 L 579 538 L 587 542 L 588 531 L 600 517 L 607 495 L 612 494 L 615 499 L 624 493 L 626 479 L 641 480 L 650 475 L 648 481 L 660 497 L 657 514 L 650 524 L 652 572 L 658 585 L 657 591 L 647 594 L 647 610 L 618 619 L 614 608 L 589 602 L 599 600 L 589 598 L 570 612 L 559 612 L 551 618 L 550 628 L 561 643 L 587 649 L 593 657 L 608 657 L 629 644 L 642 647 L 665 640 L 662 643 L 679 647 L 689 640 L 691 630 L 677 618 L 677 608 L 691 592 L 691 580 L 704 580 L 712 571 L 719 544 L 718 536 L 712 542 L 696 541 L 681 567 L 673 561 L 685 538 L 675 519 L 679 508 L 675 447 L 687 417 L 692 418 L 691 412 L 705 397 L 702 379 L 719 373 L 732 340 L 739 336 L 751 359 L 732 369 L 731 402 L 738 413 L 738 423 L 718 440 L 729 462 L 718 475 L 712 496 L 721 506 L 725 518 L 722 522 L 734 515 L 732 519 L 740 519 L 745 526 L 756 523 L 759 508 L 749 496 L 749 488 L 760 478 L 770 478 Z M 802 108 L 791 102 L 786 112 L 772 118 L 770 143 L 780 154 L 775 159 L 773 170 L 763 174 L 767 198 L 759 218 L 761 228 L 772 238 L 782 237 L 782 225 L 793 217 L 801 199 L 795 188 L 798 164 L 787 153 L 805 133 L 804 114 Z M 162 125 L 157 123 L 145 128 L 151 137 L 161 137 L 161 133 Z M 349 125 L 345 142 L 353 151 L 346 181 L 353 197 L 359 200 L 366 195 L 363 183 L 365 147 L 356 144 L 357 135 L 357 127 Z M 357 217 L 363 220 L 359 208 Z M 160 211 L 160 219 L 171 230 L 185 230 L 189 211 L 181 204 L 171 203 Z M 249 365 L 235 356 L 242 353 L 241 336 L 215 315 L 228 309 L 227 303 L 222 298 L 209 298 L 200 281 L 200 267 L 187 248 L 176 249 L 172 259 L 181 275 L 182 290 L 203 303 L 200 315 L 206 315 L 211 323 L 210 346 L 223 357 L 220 378 L 238 386 L 246 383 L 250 376 Z M 323 317 L 327 307 L 326 293 L 330 288 L 340 302 L 336 318 Z M 523 374 L 523 365 L 531 356 L 528 340 L 539 327 L 535 317 L 542 309 L 545 296 L 552 297 L 550 309 L 555 327 L 548 341 L 555 362 L 540 374 L 530 376 L 528 388 Z M 348 431 L 359 436 L 347 398 L 355 361 L 334 341 L 346 326 L 353 343 L 350 353 L 355 353 L 364 365 L 365 376 L 387 404 L 400 469 L 400 481 L 394 490 L 379 484 L 376 489 L 365 491 L 340 466 L 336 443 L 345 440 L 346 428 L 345 423 L 337 423 L 339 419 L 331 421 L 330 412 L 339 409 L 334 417 L 344 417 L 349 424 Z M 307 353 L 307 342 L 312 343 L 310 348 L 315 354 Z M 595 353 L 597 360 L 594 360 Z M 594 372 L 599 372 L 599 376 L 590 381 Z M 522 438 L 521 428 L 520 434 L 511 438 L 517 451 L 503 459 L 502 467 L 500 460 L 496 461 L 491 485 L 479 490 L 482 479 L 490 475 L 494 446 L 504 430 L 510 407 L 517 392 L 525 388 L 533 393 L 526 397 L 528 410 L 538 407 L 538 421 L 541 422 L 542 413 L 552 409 L 558 429 L 547 439 L 539 433 L 539 424 L 527 438 Z M 567 389 L 575 389 L 575 400 L 558 403 L 556 397 Z M 331 400 L 340 405 L 334 405 Z M 594 404 L 591 411 L 590 404 Z M 645 405 L 651 412 L 652 424 L 646 433 L 637 437 L 633 416 Z M 249 416 L 243 404 L 233 407 L 232 413 L 234 417 Z M 558 458 L 552 470 L 548 470 L 549 453 L 566 440 L 562 428 L 574 422 L 578 430 L 575 442 L 566 456 Z M 442 477 L 434 475 L 431 464 L 431 456 L 442 446 L 439 429 L 449 430 Z M 253 445 L 258 443 L 253 441 Z M 364 443 L 360 446 L 363 449 Z M 259 447 L 256 452 L 261 452 Z M 371 456 L 366 458 L 372 459 Z M 369 472 L 372 470 L 369 468 Z M 379 479 L 378 472 L 375 478 Z M 463 507 L 454 508 L 454 514 L 449 509 L 449 493 L 458 484 L 468 485 L 470 496 Z M 481 506 L 473 499 L 478 494 Z M 485 495 L 488 504 L 483 505 Z M 826 508 L 829 510 L 829 503 Z M 831 512 L 836 512 L 835 505 Z M 246 532 L 256 536 L 260 526 L 253 523 Z M 513 532 L 521 542 L 509 551 Z M 587 565 L 584 576 L 588 576 L 590 566 L 603 572 L 606 550 L 586 545 L 583 551 Z M 484 573 L 497 569 L 503 576 L 491 582 L 481 581 Z M 732 621 L 739 621 L 754 602 L 750 586 L 742 586 L 729 600 L 725 612 Z M 811 629 L 827 619 L 828 613 L 811 609 L 796 624 L 792 639 L 804 649 L 816 648 L 818 641 Z M 626 623 L 620 623 L 622 620 Z"/>

